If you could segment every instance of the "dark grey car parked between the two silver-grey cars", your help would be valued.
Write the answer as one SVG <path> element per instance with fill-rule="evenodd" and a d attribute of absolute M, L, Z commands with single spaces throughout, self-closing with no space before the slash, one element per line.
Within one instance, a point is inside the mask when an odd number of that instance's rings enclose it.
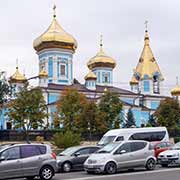
<path fill-rule="evenodd" d="M 74 146 L 65 149 L 57 155 L 59 171 L 82 170 L 83 164 L 89 155 L 99 149 L 98 146 Z"/>

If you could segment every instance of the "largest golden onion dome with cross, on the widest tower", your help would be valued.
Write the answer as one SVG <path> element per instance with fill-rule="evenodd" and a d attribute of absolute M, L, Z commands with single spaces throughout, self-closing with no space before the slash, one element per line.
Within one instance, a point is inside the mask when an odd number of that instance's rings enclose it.
<path fill-rule="evenodd" d="M 77 48 L 77 41 L 72 35 L 67 33 L 56 20 L 56 6 L 53 7 L 54 15 L 51 25 L 33 42 L 33 47 L 36 51 L 41 51 L 46 48 L 62 48 L 73 50 Z"/>

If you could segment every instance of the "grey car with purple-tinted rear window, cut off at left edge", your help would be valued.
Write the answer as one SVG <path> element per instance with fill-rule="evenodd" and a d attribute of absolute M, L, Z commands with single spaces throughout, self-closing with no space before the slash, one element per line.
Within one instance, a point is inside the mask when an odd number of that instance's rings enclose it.
<path fill-rule="evenodd" d="M 40 176 L 50 180 L 57 171 L 56 156 L 46 144 L 14 144 L 0 148 L 0 179 Z"/>

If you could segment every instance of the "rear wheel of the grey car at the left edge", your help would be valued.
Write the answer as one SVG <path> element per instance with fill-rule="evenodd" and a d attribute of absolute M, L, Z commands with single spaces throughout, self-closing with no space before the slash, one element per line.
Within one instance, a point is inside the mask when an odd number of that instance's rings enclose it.
<path fill-rule="evenodd" d="M 50 166 L 42 167 L 39 174 L 41 180 L 50 180 L 52 179 L 53 175 L 54 175 L 54 170 Z"/>

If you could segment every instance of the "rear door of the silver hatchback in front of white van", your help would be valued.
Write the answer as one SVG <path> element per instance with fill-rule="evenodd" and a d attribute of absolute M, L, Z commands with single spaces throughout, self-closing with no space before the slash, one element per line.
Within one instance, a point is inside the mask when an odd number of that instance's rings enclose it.
<path fill-rule="evenodd" d="M 145 148 L 147 144 L 148 144 L 147 142 L 131 142 L 130 143 L 130 146 L 131 146 L 130 165 L 131 166 L 133 167 L 142 166 L 145 163 L 146 158 L 149 155 L 147 148 Z"/>

